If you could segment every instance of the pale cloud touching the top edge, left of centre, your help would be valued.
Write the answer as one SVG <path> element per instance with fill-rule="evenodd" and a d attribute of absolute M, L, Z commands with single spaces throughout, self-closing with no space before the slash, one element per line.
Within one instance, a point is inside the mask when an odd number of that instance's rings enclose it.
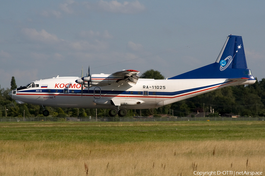
<path fill-rule="evenodd" d="M 98 6 L 103 11 L 111 13 L 133 14 L 145 10 L 145 6 L 137 0 L 134 2 L 124 1 L 123 4 L 118 2 L 117 0 L 110 2 L 100 0 Z"/>

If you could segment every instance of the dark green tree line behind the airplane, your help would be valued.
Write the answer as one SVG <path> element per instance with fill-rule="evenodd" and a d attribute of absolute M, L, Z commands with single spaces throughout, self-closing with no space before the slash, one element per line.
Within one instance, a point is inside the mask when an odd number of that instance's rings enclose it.
<path fill-rule="evenodd" d="M 140 78 L 165 79 L 157 70 L 147 70 Z M 184 117 L 192 112 L 210 112 L 208 116 L 220 116 L 222 114 L 235 114 L 239 116 L 265 116 L 265 78 L 256 83 L 224 87 L 206 94 L 175 102 L 158 109 L 130 109 L 127 117 L 150 116 L 160 117 L 160 114 Z M 8 93 L 16 89 L 15 78 L 11 79 L 11 87 L 1 88 L 0 85 L 0 117 L 43 117 L 42 106 L 33 104 L 17 104 Z M 110 109 L 83 109 L 83 108 L 58 108 L 48 107 L 52 117 L 108 117 Z"/>

